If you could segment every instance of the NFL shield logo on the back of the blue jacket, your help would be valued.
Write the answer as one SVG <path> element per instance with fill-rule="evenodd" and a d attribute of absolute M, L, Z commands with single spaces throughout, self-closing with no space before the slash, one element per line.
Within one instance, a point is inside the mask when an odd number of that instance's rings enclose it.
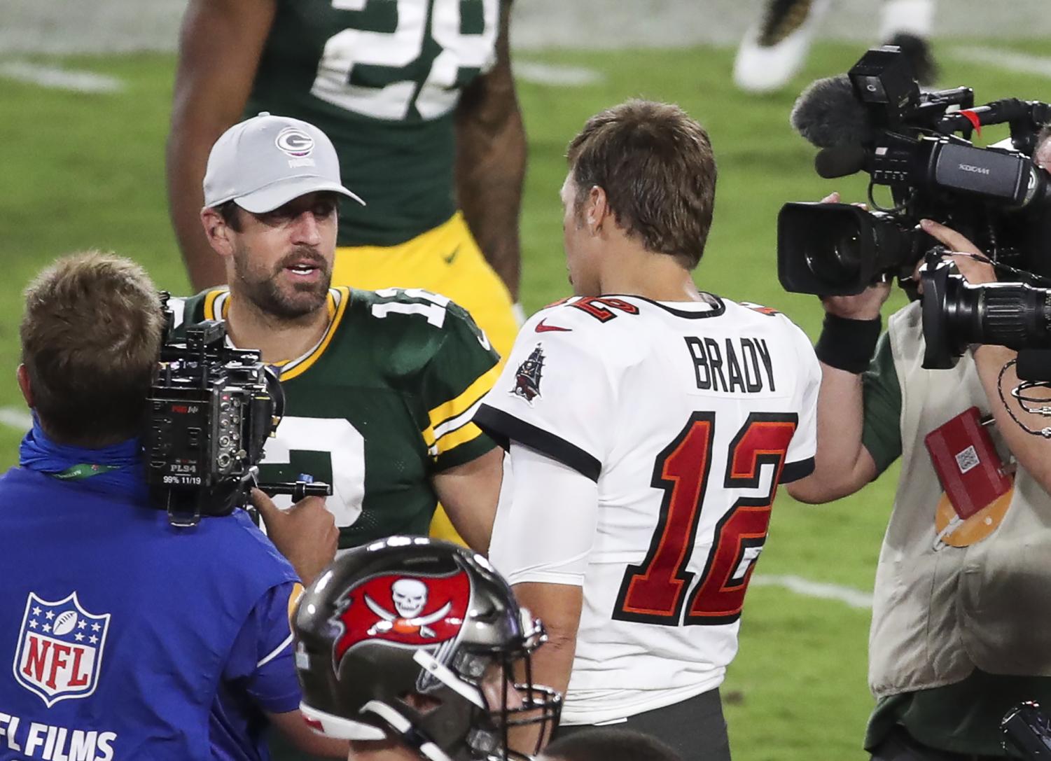
<path fill-rule="evenodd" d="M 47 707 L 86 698 L 99 683 L 109 614 L 85 611 L 77 593 L 49 602 L 29 593 L 15 654 L 15 678 Z"/>

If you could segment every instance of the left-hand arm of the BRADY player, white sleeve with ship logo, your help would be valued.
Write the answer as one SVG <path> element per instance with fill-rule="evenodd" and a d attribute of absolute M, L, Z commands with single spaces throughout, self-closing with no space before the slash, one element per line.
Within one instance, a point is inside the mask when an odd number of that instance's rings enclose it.
<path fill-rule="evenodd" d="M 581 322 L 591 317 L 558 313 L 570 329 L 538 336 L 535 326 L 552 314 L 540 312 L 522 328 L 475 421 L 508 451 L 490 558 L 548 630 L 534 680 L 564 691 L 617 405 L 607 352 L 588 332 L 594 326 Z"/>

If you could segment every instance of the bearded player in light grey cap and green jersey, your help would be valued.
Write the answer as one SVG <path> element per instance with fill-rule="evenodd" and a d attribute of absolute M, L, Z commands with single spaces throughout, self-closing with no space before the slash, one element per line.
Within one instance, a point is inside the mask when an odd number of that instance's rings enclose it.
<path fill-rule="evenodd" d="M 177 316 L 225 318 L 234 345 L 280 368 L 285 416 L 262 477 L 331 482 L 341 547 L 426 534 L 440 497 L 485 552 L 501 456 L 470 420 L 498 357 L 444 296 L 330 288 L 336 199 L 358 203 L 338 167 L 306 122 L 264 114 L 227 130 L 201 220 L 230 285 L 185 300 Z"/>

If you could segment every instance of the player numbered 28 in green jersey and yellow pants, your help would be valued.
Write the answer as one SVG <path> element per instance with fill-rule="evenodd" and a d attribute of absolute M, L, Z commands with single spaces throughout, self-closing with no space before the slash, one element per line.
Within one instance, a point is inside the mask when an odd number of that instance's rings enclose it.
<path fill-rule="evenodd" d="M 442 293 L 510 351 L 526 165 L 510 2 L 190 0 L 168 190 L 194 287 L 226 277 L 198 221 L 209 147 L 243 116 L 282 114 L 330 136 L 369 202 L 341 205 L 333 283 Z"/>

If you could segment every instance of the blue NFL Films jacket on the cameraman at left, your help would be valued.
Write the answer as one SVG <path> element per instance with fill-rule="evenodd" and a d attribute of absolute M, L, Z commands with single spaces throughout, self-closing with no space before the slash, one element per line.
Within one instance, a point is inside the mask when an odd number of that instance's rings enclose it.
<path fill-rule="evenodd" d="M 231 647 L 296 578 L 243 511 L 176 529 L 24 469 L 0 477 L 0 572 L 5 761 L 211 759 Z"/>

